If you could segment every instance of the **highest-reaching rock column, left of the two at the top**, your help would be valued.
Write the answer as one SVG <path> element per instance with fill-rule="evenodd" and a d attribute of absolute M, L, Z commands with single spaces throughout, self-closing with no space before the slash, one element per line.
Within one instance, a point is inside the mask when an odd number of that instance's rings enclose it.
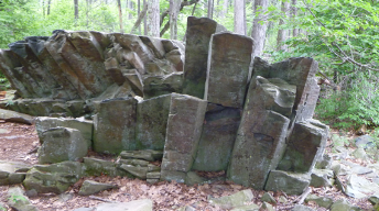
<path fill-rule="evenodd" d="M 187 18 L 183 93 L 204 98 L 212 34 L 227 31 L 207 18 Z"/>

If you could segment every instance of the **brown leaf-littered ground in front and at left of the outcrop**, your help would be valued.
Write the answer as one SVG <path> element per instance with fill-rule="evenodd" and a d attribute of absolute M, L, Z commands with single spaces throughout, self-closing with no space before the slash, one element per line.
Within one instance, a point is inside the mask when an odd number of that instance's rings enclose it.
<path fill-rule="evenodd" d="M 40 145 L 34 125 L 17 124 L 0 122 L 0 159 L 17 160 L 28 164 L 36 164 L 36 151 Z M 108 157 L 111 158 L 111 157 Z M 358 160 L 359 162 L 359 160 Z M 93 179 L 101 182 L 118 185 L 118 189 L 102 191 L 100 193 L 83 197 L 78 196 L 78 189 L 85 179 Z M 21 185 L 19 185 L 21 187 Z M 7 191 L 9 186 L 0 187 L 0 203 L 6 206 Z M 37 209 L 44 211 L 71 211 L 80 207 L 95 207 L 105 201 L 127 202 L 138 199 L 152 199 L 154 201 L 154 210 L 175 210 L 186 204 L 193 206 L 196 210 L 220 210 L 208 204 L 208 198 L 218 198 L 229 196 L 237 191 L 247 189 L 246 187 L 235 185 L 229 181 L 218 181 L 214 184 L 205 184 L 201 186 L 187 187 L 183 184 L 161 181 L 155 185 L 147 184 L 144 180 L 129 178 L 110 178 L 107 176 L 82 178 L 68 191 L 63 195 L 39 195 L 30 198 L 31 202 Z M 255 199 L 253 203 L 261 204 L 260 197 L 264 191 L 252 190 Z M 277 210 L 291 210 L 299 201 L 297 196 L 286 196 L 283 192 L 271 192 L 277 201 L 280 197 L 286 199 L 285 202 L 279 202 Z M 372 206 L 365 199 L 358 200 L 345 196 L 342 191 L 333 188 L 311 188 L 311 193 L 317 196 L 332 197 L 337 199 L 345 198 L 351 204 L 360 207 L 364 210 L 371 210 Z M 316 210 L 326 210 L 317 208 L 315 203 L 304 203 Z M 7 207 L 7 209 L 9 209 Z M 10 210 L 10 209 L 9 209 Z"/>

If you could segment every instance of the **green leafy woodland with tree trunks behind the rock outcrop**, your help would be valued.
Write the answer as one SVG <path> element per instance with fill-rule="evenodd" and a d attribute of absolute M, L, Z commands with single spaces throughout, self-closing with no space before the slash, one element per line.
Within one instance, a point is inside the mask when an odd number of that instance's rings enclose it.
<path fill-rule="evenodd" d="M 185 42 L 188 15 L 251 36 L 270 63 L 310 56 L 320 64 L 316 118 L 344 131 L 379 134 L 377 0 L 0 0 L 0 48 L 54 30 L 93 30 Z M 10 88 L 0 74 L 3 89 Z"/>

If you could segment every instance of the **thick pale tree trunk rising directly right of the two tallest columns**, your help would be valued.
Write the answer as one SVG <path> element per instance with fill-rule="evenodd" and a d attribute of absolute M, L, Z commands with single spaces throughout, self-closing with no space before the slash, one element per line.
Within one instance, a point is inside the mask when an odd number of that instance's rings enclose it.
<path fill-rule="evenodd" d="M 255 1 L 256 18 L 252 21 L 251 37 L 255 40 L 255 56 L 261 56 L 264 49 L 264 40 L 267 33 L 267 18 L 266 12 L 269 5 L 269 0 Z"/>

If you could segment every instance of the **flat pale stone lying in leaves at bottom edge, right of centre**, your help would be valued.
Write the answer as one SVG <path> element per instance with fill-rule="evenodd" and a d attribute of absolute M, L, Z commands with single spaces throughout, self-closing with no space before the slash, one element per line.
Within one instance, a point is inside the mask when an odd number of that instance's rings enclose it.
<path fill-rule="evenodd" d="M 209 203 L 213 206 L 217 206 L 221 209 L 230 210 L 240 206 L 245 206 L 245 203 L 251 202 L 252 199 L 253 195 L 251 190 L 247 189 L 230 196 L 209 199 Z"/>

